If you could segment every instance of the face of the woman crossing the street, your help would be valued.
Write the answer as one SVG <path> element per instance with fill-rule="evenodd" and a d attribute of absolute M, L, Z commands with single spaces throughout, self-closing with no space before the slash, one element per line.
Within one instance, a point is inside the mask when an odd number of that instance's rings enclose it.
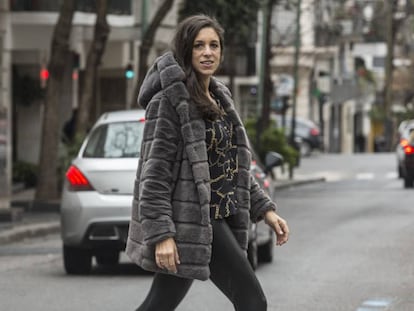
<path fill-rule="evenodd" d="M 220 39 L 211 27 L 200 30 L 194 39 L 192 65 L 199 78 L 208 82 L 221 60 Z"/>

